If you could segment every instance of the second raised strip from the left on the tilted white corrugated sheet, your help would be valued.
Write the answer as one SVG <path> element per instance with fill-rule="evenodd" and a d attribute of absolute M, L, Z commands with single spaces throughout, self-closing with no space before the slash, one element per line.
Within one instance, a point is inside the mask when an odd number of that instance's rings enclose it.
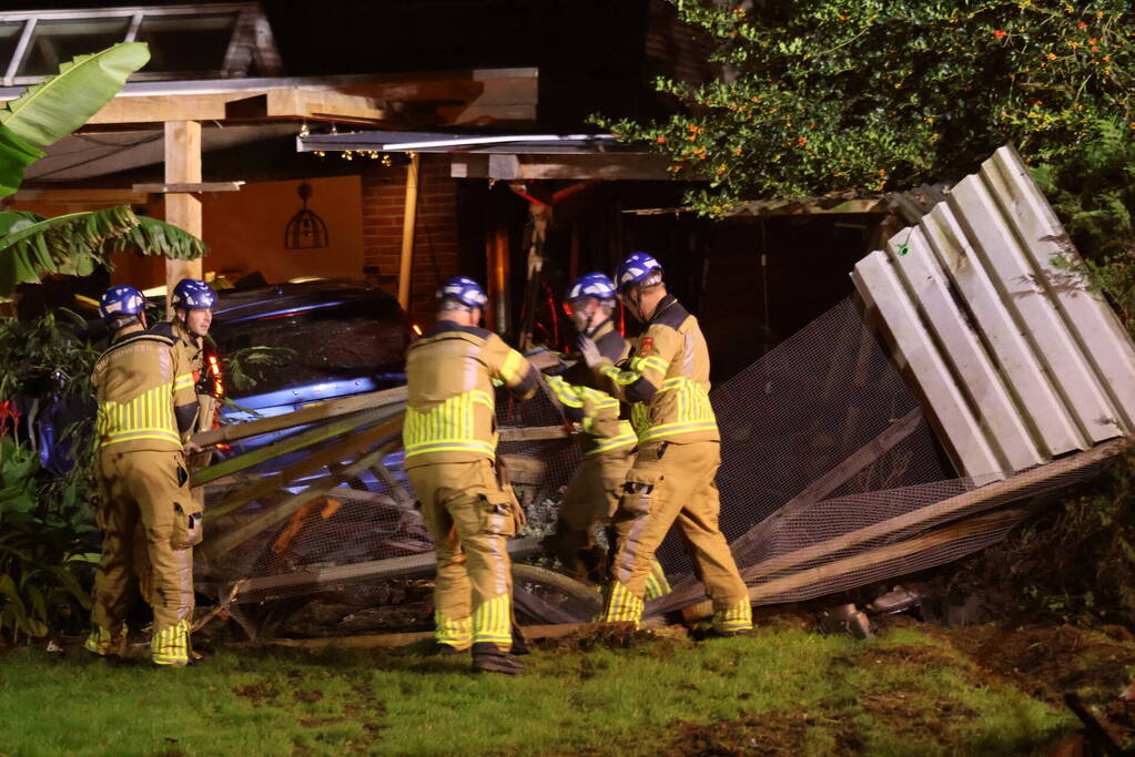
<path fill-rule="evenodd" d="M 907 294 L 917 304 L 955 380 L 977 411 L 982 433 L 1002 470 L 1020 470 L 1048 461 L 1041 454 L 997 366 L 985 352 L 949 290 L 922 229 L 906 229 L 886 245 Z"/>

